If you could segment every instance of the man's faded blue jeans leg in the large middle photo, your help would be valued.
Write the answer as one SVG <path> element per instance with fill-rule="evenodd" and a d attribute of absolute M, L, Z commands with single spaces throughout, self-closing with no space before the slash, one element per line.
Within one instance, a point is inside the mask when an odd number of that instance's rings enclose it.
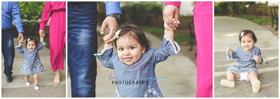
<path fill-rule="evenodd" d="M 68 2 L 67 13 L 72 97 L 95 97 L 97 2 Z"/>

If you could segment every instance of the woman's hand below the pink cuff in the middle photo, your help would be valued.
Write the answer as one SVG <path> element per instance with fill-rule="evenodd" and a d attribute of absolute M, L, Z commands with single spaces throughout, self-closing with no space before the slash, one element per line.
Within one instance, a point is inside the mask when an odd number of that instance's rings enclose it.
<path fill-rule="evenodd" d="M 179 8 L 175 5 L 165 5 L 163 9 L 163 21 L 172 29 L 176 30 L 180 24 L 179 22 Z M 175 18 L 175 21 L 173 21 Z"/>

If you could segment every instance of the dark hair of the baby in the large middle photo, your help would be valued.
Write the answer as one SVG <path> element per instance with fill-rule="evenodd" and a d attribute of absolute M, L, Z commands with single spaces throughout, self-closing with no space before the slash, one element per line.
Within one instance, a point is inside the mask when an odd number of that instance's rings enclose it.
<path fill-rule="evenodd" d="M 136 25 L 131 23 L 123 23 L 118 30 L 120 30 L 119 37 L 126 35 L 129 36 L 130 39 L 135 39 L 141 45 L 141 47 L 145 47 L 145 52 L 147 52 L 151 46 L 150 40 L 148 40 L 144 34 L 144 32 Z M 117 48 L 117 38 L 114 40 L 115 47 Z"/>

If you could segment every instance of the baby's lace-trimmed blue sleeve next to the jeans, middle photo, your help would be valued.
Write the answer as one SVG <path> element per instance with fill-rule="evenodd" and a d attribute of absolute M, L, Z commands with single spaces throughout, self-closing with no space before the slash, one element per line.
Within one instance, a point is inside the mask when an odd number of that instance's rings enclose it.
<path fill-rule="evenodd" d="M 113 56 L 113 46 L 108 47 L 104 51 L 102 49 L 100 54 L 94 54 L 94 56 L 99 59 L 105 67 L 114 69 L 114 65 L 111 59 Z"/>

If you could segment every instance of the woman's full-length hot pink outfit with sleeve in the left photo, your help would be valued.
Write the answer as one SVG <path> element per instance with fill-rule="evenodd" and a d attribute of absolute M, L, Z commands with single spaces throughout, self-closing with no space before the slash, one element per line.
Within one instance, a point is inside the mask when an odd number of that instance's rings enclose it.
<path fill-rule="evenodd" d="M 64 45 L 66 44 L 66 2 L 46 2 L 42 13 L 40 30 L 45 29 L 50 12 L 50 64 L 53 71 L 63 70 Z"/>

